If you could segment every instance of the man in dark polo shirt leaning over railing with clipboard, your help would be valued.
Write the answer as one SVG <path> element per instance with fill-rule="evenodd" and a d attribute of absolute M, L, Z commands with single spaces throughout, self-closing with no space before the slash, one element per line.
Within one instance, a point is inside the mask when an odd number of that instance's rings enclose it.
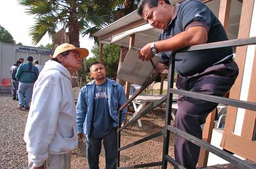
<path fill-rule="evenodd" d="M 162 57 L 157 70 L 168 68 L 172 51 L 191 45 L 228 40 L 221 22 L 212 11 L 197 0 L 186 0 L 172 6 L 168 0 L 141 0 L 138 13 L 154 28 L 162 29 L 156 42 L 148 43 L 140 50 L 142 60 L 150 60 L 155 54 Z M 211 49 L 177 53 L 175 70 L 178 73 L 176 87 L 187 91 L 223 96 L 238 76 L 238 66 L 232 60 L 232 49 Z M 202 138 L 200 125 L 218 104 L 179 96 L 175 126 L 198 138 Z M 186 168 L 196 168 L 200 147 L 177 137 L 175 159 Z"/>

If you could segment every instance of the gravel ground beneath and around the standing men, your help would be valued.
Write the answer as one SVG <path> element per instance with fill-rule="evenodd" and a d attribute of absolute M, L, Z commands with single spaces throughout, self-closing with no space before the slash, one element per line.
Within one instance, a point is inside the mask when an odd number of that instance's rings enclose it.
<path fill-rule="evenodd" d="M 18 110 L 17 107 L 17 101 L 12 101 L 10 94 L 0 94 L 0 168 L 24 168 L 27 166 L 26 144 L 23 140 L 23 135 L 28 111 Z M 157 109 L 146 117 L 143 117 L 142 128 L 138 127 L 138 123 L 134 123 L 126 130 L 123 130 L 121 147 L 163 129 L 164 112 L 164 109 Z M 130 117 L 131 113 L 128 113 L 127 118 L 129 119 Z M 173 139 L 171 140 L 169 155 L 173 157 Z M 160 136 L 121 151 L 120 166 L 161 161 L 162 147 L 163 136 Z M 88 168 L 85 150 L 86 145 L 84 140 L 79 140 L 78 148 L 72 153 L 71 168 Z M 99 161 L 100 168 L 104 168 L 105 159 L 103 148 Z M 168 168 L 172 167 L 168 165 Z"/>

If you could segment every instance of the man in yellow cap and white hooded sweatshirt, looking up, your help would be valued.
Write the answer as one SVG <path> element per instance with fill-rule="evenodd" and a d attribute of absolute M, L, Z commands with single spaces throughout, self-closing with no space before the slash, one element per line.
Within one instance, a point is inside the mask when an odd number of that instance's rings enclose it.
<path fill-rule="evenodd" d="M 35 82 L 24 135 L 29 168 L 70 168 L 78 144 L 70 79 L 88 54 L 72 44 L 59 45 Z"/>

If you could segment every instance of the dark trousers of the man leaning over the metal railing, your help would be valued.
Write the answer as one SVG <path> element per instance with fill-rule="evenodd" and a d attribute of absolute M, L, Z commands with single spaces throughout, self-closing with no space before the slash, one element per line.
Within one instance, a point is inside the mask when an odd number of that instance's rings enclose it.
<path fill-rule="evenodd" d="M 211 66 L 202 73 L 189 77 L 179 76 L 178 89 L 203 94 L 223 96 L 238 76 L 238 66 L 233 61 Z M 203 101 L 179 95 L 175 126 L 202 139 L 200 125 L 205 123 L 207 115 L 218 103 Z M 175 159 L 186 168 L 196 168 L 200 147 L 177 136 L 175 141 Z"/>

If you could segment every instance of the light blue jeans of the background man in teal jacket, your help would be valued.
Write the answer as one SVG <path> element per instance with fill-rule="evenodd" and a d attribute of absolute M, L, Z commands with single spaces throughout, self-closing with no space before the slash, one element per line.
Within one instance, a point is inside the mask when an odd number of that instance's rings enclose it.
<path fill-rule="evenodd" d="M 18 104 L 19 106 L 29 106 L 29 101 L 32 96 L 34 83 L 18 83 Z M 26 95 L 26 100 L 24 101 L 24 94 Z"/>

